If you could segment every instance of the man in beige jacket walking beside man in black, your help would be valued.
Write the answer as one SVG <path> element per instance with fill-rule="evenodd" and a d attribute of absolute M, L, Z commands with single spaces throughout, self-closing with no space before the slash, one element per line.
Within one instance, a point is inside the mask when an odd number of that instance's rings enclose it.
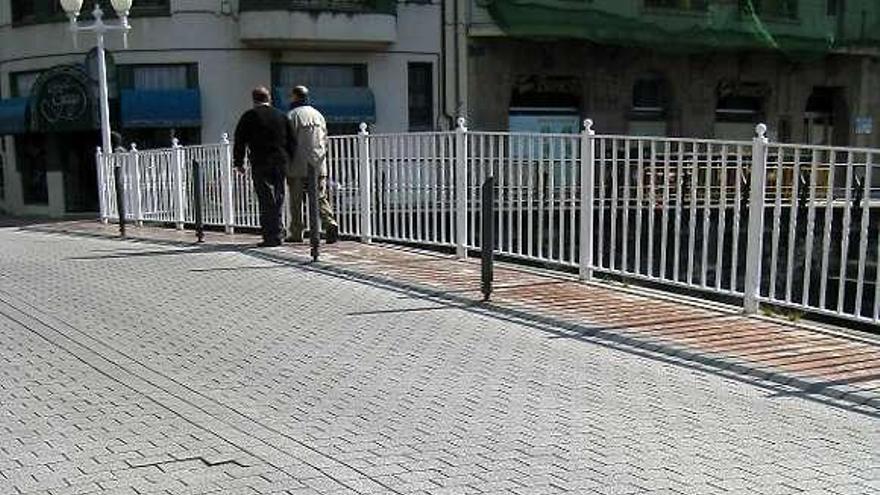
<path fill-rule="evenodd" d="M 327 232 L 327 243 L 339 239 L 339 224 L 327 199 L 327 123 L 321 112 L 309 104 L 309 90 L 305 86 L 293 88 L 290 112 L 293 129 L 293 159 L 287 167 L 287 186 L 290 189 L 290 225 L 287 242 L 302 242 L 303 199 L 308 193 L 309 171 L 318 176 L 318 206 L 321 223 Z"/>

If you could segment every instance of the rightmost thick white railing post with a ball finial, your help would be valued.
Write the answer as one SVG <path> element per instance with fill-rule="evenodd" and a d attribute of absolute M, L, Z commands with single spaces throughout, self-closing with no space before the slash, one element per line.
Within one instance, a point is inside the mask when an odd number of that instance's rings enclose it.
<path fill-rule="evenodd" d="M 749 235 L 746 251 L 746 280 L 743 306 L 745 312 L 758 312 L 758 298 L 761 291 L 761 257 L 764 237 L 764 187 L 767 183 L 767 126 L 758 124 L 757 136 L 752 147 L 752 170 L 749 178 Z"/>

